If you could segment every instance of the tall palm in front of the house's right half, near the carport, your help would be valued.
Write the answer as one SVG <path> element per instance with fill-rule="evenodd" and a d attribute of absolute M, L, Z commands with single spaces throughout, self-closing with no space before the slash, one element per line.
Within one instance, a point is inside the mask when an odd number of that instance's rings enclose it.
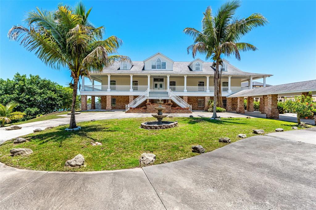
<path fill-rule="evenodd" d="M 255 51 L 257 48 L 252 44 L 239 42 L 240 38 L 253 28 L 264 26 L 268 20 L 261 14 L 253 13 L 247 18 L 239 19 L 234 17 L 236 9 L 240 7 L 239 1 L 229 1 L 224 3 L 212 15 L 212 10 L 207 7 L 202 20 L 202 31 L 195 28 L 185 28 L 185 34 L 190 35 L 194 39 L 194 44 L 190 45 L 187 50 L 188 54 L 192 51 L 193 58 L 197 53 L 206 54 L 206 59 L 211 58 L 214 62 L 214 105 L 212 119 L 217 119 L 216 104 L 221 94 L 219 92 L 219 84 L 221 82 L 221 74 L 219 66 L 222 65 L 221 55 L 227 57 L 235 55 L 240 61 L 240 51 Z"/>

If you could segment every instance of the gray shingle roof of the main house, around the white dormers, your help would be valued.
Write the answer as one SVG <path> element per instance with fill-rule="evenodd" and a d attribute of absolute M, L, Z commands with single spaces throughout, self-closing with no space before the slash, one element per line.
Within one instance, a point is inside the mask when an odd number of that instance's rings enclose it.
<path fill-rule="evenodd" d="M 144 70 L 144 62 L 143 61 L 132 61 L 133 66 L 131 70 L 120 70 L 120 64 L 116 63 L 110 67 L 106 67 L 103 69 L 103 73 L 115 73 L 115 74 L 194 74 L 194 75 L 214 75 L 214 70 L 212 69 L 211 62 L 203 63 L 203 71 L 192 71 L 189 68 L 189 64 L 191 62 L 174 62 L 173 63 L 173 71 L 153 71 L 153 70 Z M 227 71 L 223 71 L 222 75 L 253 75 L 253 76 L 272 76 L 272 74 L 261 74 L 261 73 L 249 73 L 243 72 L 237 67 L 234 67 L 231 64 L 228 64 Z"/>

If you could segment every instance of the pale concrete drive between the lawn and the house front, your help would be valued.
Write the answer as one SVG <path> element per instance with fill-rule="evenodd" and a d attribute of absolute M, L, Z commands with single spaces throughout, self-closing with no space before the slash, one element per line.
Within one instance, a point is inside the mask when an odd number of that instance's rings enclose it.
<path fill-rule="evenodd" d="M 193 114 L 169 114 L 174 117 L 189 117 L 193 115 L 194 117 L 210 117 L 211 114 L 209 112 L 194 112 Z M 0 128 L 0 144 L 5 142 L 6 140 L 16 138 L 19 136 L 27 135 L 29 133 L 33 133 L 33 130 L 40 128 L 45 129 L 48 126 L 58 126 L 60 124 L 69 124 L 70 115 L 58 115 L 63 116 L 64 118 L 57 118 L 53 120 L 43 120 L 32 123 L 25 123 L 19 126 L 22 129 L 7 131 L 5 127 Z M 244 115 L 236 114 L 236 113 L 220 113 L 221 117 L 246 117 Z M 121 118 L 137 118 L 137 117 L 152 117 L 151 114 L 141 114 L 141 113 L 125 113 L 124 111 L 112 111 L 112 112 L 95 112 L 95 113 L 85 113 L 76 115 L 77 122 L 90 121 L 92 119 L 95 120 L 106 120 L 106 119 L 121 119 Z"/>

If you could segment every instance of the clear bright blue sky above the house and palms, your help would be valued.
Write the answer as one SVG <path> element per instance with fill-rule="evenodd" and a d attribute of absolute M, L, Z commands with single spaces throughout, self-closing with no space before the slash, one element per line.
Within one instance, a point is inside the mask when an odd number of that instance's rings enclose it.
<path fill-rule="evenodd" d="M 38 74 L 61 85 L 70 82 L 67 69 L 53 70 L 19 43 L 9 41 L 7 32 L 23 24 L 27 11 L 37 6 L 53 10 L 59 2 L 77 1 L 5 1 L 0 0 L 0 77 L 12 79 L 16 72 Z M 119 49 L 134 61 L 143 61 L 161 52 L 174 61 L 192 61 L 186 48 L 192 38 L 185 27 L 201 29 L 207 6 L 215 11 L 224 1 L 83 1 L 93 7 L 89 18 L 95 26 L 105 26 L 105 37 L 116 35 L 124 42 Z M 242 38 L 259 50 L 242 52 L 241 61 L 228 58 L 246 72 L 269 73 L 267 84 L 278 85 L 316 79 L 316 1 L 242 1 L 237 16 L 261 13 L 269 24 Z M 204 55 L 199 55 L 205 60 Z M 260 81 L 260 80 L 257 80 Z"/>

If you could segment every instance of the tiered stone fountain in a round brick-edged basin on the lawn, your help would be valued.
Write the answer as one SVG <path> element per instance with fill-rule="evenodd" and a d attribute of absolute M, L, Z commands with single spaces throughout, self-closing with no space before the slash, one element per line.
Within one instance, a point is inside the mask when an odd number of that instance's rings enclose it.
<path fill-rule="evenodd" d="M 156 110 L 158 110 L 157 114 L 152 114 L 154 118 L 156 118 L 158 121 L 148 121 L 143 122 L 140 127 L 145 129 L 167 129 L 167 128 L 173 128 L 175 126 L 178 126 L 178 122 L 172 122 L 172 121 L 162 121 L 163 118 L 167 117 L 167 114 L 162 114 L 162 110 L 165 108 L 161 106 L 163 102 L 161 99 L 159 99 L 158 107 L 155 107 Z"/>

